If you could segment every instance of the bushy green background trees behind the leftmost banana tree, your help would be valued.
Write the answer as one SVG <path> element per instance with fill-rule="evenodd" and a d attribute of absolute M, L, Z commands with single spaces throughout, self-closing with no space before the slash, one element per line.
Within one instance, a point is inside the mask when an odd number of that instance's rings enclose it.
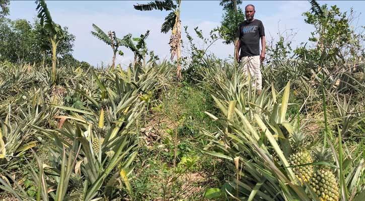
<path fill-rule="evenodd" d="M 41 34 L 41 29 L 38 20 L 31 25 L 22 19 L 0 19 L 0 61 L 40 64 L 44 59 L 45 63 L 50 64 L 52 48 L 48 38 Z M 71 57 L 75 41 L 75 36 L 67 31 L 67 27 L 63 30 L 64 38 L 59 42 L 57 51 L 60 62 L 65 57 Z"/>

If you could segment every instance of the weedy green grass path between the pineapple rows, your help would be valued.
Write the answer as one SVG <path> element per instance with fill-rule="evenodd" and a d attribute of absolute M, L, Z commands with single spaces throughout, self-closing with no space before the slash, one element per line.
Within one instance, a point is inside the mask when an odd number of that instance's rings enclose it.
<path fill-rule="evenodd" d="M 136 200 L 201 200 L 206 189 L 223 185 L 226 161 L 199 151 L 207 144 L 200 129 L 217 129 L 205 111 L 217 113 L 213 99 L 193 85 L 174 86 L 151 106 L 145 117 L 152 120 L 141 127 L 157 128 L 151 130 L 160 138 L 147 137 L 151 142 L 139 149 L 139 171 L 131 179 Z"/>

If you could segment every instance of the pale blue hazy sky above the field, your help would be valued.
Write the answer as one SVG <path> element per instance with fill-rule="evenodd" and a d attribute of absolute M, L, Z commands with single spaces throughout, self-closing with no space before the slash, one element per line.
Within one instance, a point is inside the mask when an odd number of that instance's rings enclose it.
<path fill-rule="evenodd" d="M 160 59 L 170 58 L 169 39 L 171 32 L 161 33 L 161 25 L 167 11 L 137 11 L 133 5 L 145 4 L 150 1 L 46 1 L 48 10 L 55 23 L 62 27 L 68 27 L 68 32 L 76 36 L 74 52 L 72 55 L 80 61 L 86 61 L 94 66 L 111 64 L 113 52 L 110 46 L 91 35 L 94 31 L 92 24 L 96 24 L 104 32 L 115 31 L 118 38 L 127 34 L 139 37 L 147 30 L 150 35 L 147 38 L 149 50 L 153 50 Z M 365 4 L 363 1 L 317 1 L 320 5 L 337 5 L 341 12 L 350 8 L 358 16 L 353 22 L 353 27 L 365 25 L 363 14 Z M 194 32 L 194 27 L 199 27 L 204 36 L 209 36 L 210 30 L 220 25 L 222 21 L 223 8 L 219 5 L 220 1 L 186 1 L 181 3 L 181 23 L 182 40 L 187 42 L 184 26 L 188 26 L 188 33 L 193 36 L 194 42 L 198 47 L 205 48 L 203 43 L 198 40 Z M 308 1 L 243 1 L 240 8 L 252 4 L 255 6 L 255 19 L 261 20 L 265 27 L 266 41 L 276 41 L 279 34 L 288 36 L 292 42 L 292 47 L 296 47 L 301 42 L 307 42 L 314 31 L 312 25 L 304 22 L 305 17 L 302 13 L 309 11 Z M 33 23 L 37 11 L 34 1 L 11 1 L 10 16 L 12 20 L 26 19 Z M 293 34 L 293 35 L 291 35 Z M 120 48 L 124 56 L 117 56 L 116 64 L 122 67 L 127 66 L 133 61 L 132 52 L 126 48 Z M 233 44 L 227 45 L 223 40 L 216 41 L 208 49 L 217 57 L 228 58 L 233 55 Z M 182 54 L 186 54 L 183 50 Z"/>

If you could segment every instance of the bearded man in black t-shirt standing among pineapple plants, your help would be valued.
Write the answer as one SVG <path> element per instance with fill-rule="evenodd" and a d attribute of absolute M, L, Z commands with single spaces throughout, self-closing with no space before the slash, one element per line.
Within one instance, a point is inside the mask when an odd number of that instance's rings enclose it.
<path fill-rule="evenodd" d="M 243 63 L 245 75 L 247 75 L 247 71 L 250 72 L 252 85 L 256 87 L 258 93 L 261 93 L 262 76 L 260 61 L 265 59 L 265 31 L 262 22 L 254 19 L 255 7 L 253 5 L 247 5 L 245 13 L 246 21 L 239 26 L 236 59 L 238 62 Z M 261 53 L 260 39 L 262 46 Z"/>

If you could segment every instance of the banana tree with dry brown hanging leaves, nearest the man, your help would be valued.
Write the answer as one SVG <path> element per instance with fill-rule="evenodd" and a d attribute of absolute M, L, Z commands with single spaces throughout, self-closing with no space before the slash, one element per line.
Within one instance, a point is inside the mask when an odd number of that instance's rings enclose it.
<path fill-rule="evenodd" d="M 166 1 L 154 1 L 148 4 L 137 4 L 134 5 L 134 9 L 138 11 L 152 11 L 152 10 L 165 10 L 171 11 L 171 13 L 165 18 L 165 22 L 161 26 L 161 33 L 167 33 L 172 30 L 170 37 L 170 53 L 171 60 L 177 56 L 177 76 L 181 79 L 181 21 L 180 21 L 180 10 L 181 0 L 176 0 L 175 5 L 172 0 Z"/>

